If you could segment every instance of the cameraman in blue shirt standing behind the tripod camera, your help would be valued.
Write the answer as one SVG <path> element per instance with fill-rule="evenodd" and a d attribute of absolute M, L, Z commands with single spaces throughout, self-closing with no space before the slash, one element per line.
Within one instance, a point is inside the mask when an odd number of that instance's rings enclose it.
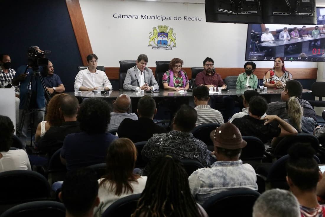
<path fill-rule="evenodd" d="M 34 49 L 36 52 L 41 53 L 42 51 L 37 46 L 32 46 L 28 50 Z M 21 125 L 22 112 L 25 110 L 26 115 L 24 118 L 24 123 L 22 123 L 22 130 L 19 138 L 23 143 L 23 147 L 26 146 L 26 138 L 28 127 L 31 123 L 31 118 L 33 119 L 32 135 L 35 134 L 37 125 L 44 120 L 45 114 L 45 98 L 44 89 L 38 76 L 32 76 L 32 66 L 33 62 L 30 58 L 28 59 L 28 65 L 21 65 L 17 69 L 17 73 L 12 80 L 13 85 L 18 85 L 20 82 L 20 103 L 19 103 L 19 126 Z M 26 70 L 27 69 L 27 70 Z M 26 72 L 25 72 L 26 71 Z M 40 74 L 42 75 L 43 67 L 39 67 Z M 32 87 L 30 82 L 32 81 Z M 31 88 L 31 101 L 29 108 L 25 108 L 26 100 L 28 97 L 28 90 Z M 29 113 L 30 109 L 35 109 L 32 113 Z"/>

